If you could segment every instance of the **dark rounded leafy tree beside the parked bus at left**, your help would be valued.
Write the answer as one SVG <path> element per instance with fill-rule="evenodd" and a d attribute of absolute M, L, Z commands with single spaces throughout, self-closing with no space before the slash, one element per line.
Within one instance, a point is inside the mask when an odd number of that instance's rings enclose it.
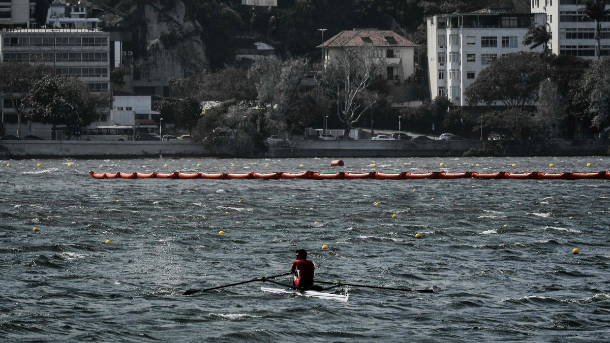
<path fill-rule="evenodd" d="M 68 140 L 74 129 L 95 120 L 98 98 L 91 95 L 86 82 L 65 75 L 46 75 L 35 82 L 34 90 L 23 98 L 30 107 L 29 118 L 45 124 L 65 125 Z"/>

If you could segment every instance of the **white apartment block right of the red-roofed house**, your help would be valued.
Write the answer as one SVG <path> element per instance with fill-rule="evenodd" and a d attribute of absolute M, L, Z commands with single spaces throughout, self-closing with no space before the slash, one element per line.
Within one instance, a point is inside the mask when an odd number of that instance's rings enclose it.
<path fill-rule="evenodd" d="M 530 51 L 522 40 L 530 26 L 544 24 L 542 13 L 498 13 L 486 9 L 426 18 L 431 98 L 448 96 L 467 106 L 464 90 L 493 60 Z M 542 51 L 542 47 L 533 51 Z"/>

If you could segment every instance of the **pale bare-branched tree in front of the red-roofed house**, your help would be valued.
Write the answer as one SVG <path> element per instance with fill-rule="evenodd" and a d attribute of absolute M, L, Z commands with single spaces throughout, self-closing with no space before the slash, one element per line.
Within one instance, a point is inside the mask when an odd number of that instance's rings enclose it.
<path fill-rule="evenodd" d="M 378 92 L 369 87 L 379 80 L 384 67 L 384 59 L 376 57 L 375 49 L 365 46 L 345 49 L 318 74 L 318 84 L 334 100 L 343 135 L 349 135 L 378 100 Z"/>

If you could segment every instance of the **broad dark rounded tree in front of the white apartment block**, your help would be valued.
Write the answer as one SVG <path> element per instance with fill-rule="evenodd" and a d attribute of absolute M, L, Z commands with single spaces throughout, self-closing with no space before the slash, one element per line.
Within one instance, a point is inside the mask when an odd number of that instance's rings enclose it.
<path fill-rule="evenodd" d="M 493 61 L 464 94 L 471 105 L 503 103 L 514 109 L 536 100 L 538 85 L 546 76 L 546 65 L 536 54 L 516 52 Z"/>

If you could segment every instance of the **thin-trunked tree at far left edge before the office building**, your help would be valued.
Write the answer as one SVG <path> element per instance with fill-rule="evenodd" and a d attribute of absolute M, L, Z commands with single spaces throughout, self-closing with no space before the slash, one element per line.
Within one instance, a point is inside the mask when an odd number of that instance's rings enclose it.
<path fill-rule="evenodd" d="M 48 73 L 51 73 L 51 68 L 43 65 L 12 61 L 0 63 L 0 93 L 9 99 L 10 106 L 17 115 L 17 137 L 21 137 L 21 123 L 26 110 L 21 98 L 28 96 L 34 83 Z"/>

